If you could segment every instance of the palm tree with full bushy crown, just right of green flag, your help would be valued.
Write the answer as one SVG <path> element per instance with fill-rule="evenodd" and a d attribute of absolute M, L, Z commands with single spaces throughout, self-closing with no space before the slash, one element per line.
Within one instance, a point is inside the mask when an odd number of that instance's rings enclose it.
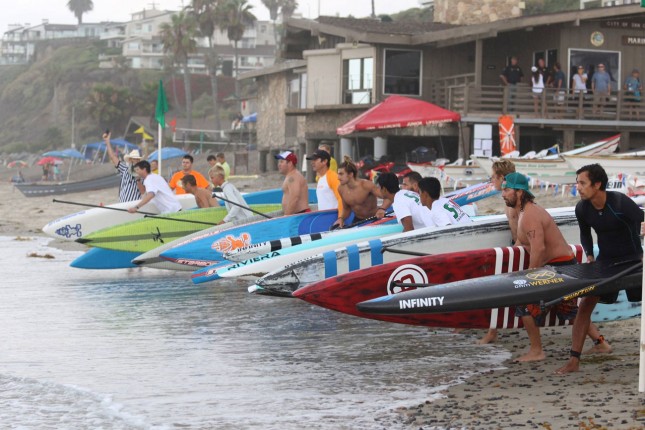
<path fill-rule="evenodd" d="M 190 91 L 190 70 L 188 56 L 197 52 L 197 23 L 192 15 L 181 11 L 159 27 L 164 52 L 170 53 L 173 60 L 184 69 L 184 92 L 186 93 L 186 119 L 188 128 L 193 125 L 192 93 Z"/>

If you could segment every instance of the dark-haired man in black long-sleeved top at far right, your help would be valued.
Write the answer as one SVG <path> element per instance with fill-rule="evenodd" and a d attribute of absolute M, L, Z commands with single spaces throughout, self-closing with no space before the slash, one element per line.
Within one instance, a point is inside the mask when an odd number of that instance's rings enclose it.
<path fill-rule="evenodd" d="M 606 191 L 607 173 L 599 164 L 583 166 L 576 172 L 576 189 L 580 202 L 576 205 L 576 217 L 580 224 L 580 242 L 587 254 L 587 261 L 594 261 L 591 229 L 598 237 L 598 260 L 625 257 L 642 259 L 643 248 L 640 234 L 643 229 L 643 211 L 625 194 Z M 641 300 L 641 288 L 626 290 L 630 302 Z M 571 334 L 570 358 L 566 365 L 555 373 L 577 372 L 584 344 L 584 334 L 591 323 L 591 314 L 600 301 L 614 303 L 618 293 L 603 296 L 583 297 L 578 317 Z"/>

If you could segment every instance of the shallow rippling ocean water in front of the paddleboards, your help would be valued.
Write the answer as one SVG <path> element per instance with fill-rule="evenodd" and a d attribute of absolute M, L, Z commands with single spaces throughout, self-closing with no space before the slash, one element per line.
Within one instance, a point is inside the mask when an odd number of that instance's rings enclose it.
<path fill-rule="evenodd" d="M 396 408 L 509 357 L 248 282 L 72 269 L 47 243 L 0 237 L 2 428 L 406 428 Z"/>

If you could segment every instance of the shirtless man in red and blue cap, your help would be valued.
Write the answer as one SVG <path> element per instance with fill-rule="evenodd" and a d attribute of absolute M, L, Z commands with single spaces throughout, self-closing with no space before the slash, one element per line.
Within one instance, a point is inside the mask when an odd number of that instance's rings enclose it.
<path fill-rule="evenodd" d="M 285 175 L 282 183 L 282 210 L 285 215 L 310 212 L 309 188 L 302 173 L 296 168 L 298 157 L 291 151 L 284 151 L 275 156 L 278 170 Z"/>

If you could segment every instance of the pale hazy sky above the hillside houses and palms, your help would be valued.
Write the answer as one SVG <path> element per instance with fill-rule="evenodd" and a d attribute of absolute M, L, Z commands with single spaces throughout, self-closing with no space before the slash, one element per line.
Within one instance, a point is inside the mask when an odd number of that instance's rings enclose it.
<path fill-rule="evenodd" d="M 128 21 L 130 14 L 145 9 L 179 10 L 181 0 L 93 0 L 94 10 L 83 15 L 83 22 Z M 187 5 L 190 0 L 184 0 Z M 395 13 L 419 6 L 419 0 L 374 0 L 376 14 Z M 269 19 L 269 12 L 260 0 L 250 0 L 253 12 L 261 20 Z M 319 6 L 320 3 L 320 6 Z M 305 18 L 320 15 L 352 15 L 363 17 L 371 14 L 372 0 L 298 0 L 298 12 Z M 55 24 L 75 24 L 76 18 L 67 8 L 67 0 L 17 0 L 11 7 L 5 7 L 0 14 L 0 33 L 7 31 L 10 24 L 36 25 L 48 19 Z"/>

